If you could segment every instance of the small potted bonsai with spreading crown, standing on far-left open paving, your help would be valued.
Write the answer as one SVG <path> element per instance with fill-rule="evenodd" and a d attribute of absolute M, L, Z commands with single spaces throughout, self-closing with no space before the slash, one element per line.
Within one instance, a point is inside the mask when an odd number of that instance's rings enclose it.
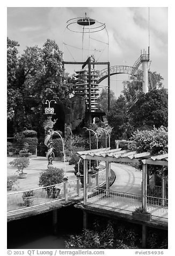
<path fill-rule="evenodd" d="M 24 173 L 24 168 L 26 168 L 30 163 L 30 160 L 26 157 L 16 158 L 10 162 L 10 165 L 17 167 L 17 172 L 19 173 L 20 179 L 25 179 L 27 173 Z"/>

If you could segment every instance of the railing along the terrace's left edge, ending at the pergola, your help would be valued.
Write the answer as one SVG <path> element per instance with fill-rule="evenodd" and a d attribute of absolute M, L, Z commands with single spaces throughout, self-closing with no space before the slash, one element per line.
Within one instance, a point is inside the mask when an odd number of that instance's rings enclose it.
<path fill-rule="evenodd" d="M 76 179 L 53 186 L 8 193 L 8 214 L 59 201 L 68 201 L 70 197 L 79 195 L 80 188 L 80 180 Z"/>

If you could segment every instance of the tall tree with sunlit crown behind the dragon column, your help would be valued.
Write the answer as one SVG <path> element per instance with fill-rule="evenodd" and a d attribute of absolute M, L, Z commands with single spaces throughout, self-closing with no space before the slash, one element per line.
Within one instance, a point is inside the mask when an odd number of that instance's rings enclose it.
<path fill-rule="evenodd" d="M 13 105 L 14 131 L 26 126 L 40 134 L 46 99 L 62 101 L 72 93 L 72 85 L 62 68 L 62 52 L 54 40 L 47 39 L 43 48 L 26 47 L 16 67 L 14 91 L 18 92 Z"/>

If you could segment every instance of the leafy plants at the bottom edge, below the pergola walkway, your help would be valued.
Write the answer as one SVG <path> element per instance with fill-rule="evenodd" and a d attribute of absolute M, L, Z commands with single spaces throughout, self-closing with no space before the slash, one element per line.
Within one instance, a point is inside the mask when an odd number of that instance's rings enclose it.
<path fill-rule="evenodd" d="M 114 223 L 106 218 L 97 218 L 89 222 L 90 229 L 79 235 L 71 235 L 65 241 L 66 248 L 72 249 L 134 249 L 142 248 L 141 229 L 136 224 Z M 148 231 L 147 247 L 152 249 L 167 248 L 167 233 L 158 230 Z"/>

